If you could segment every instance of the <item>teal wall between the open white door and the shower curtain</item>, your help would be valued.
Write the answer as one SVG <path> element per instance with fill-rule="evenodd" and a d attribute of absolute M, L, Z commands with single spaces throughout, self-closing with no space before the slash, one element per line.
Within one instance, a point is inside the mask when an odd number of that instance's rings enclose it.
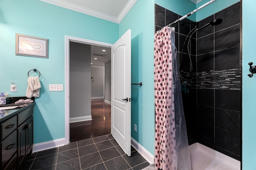
<path fill-rule="evenodd" d="M 138 0 L 119 24 L 132 34 L 131 137 L 154 155 L 154 0 Z M 137 132 L 134 131 L 137 125 Z"/>

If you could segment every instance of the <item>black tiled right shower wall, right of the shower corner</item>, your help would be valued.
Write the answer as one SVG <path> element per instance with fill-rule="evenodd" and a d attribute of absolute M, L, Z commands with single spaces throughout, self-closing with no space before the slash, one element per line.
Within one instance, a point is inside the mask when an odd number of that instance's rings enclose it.
<path fill-rule="evenodd" d="M 220 25 L 197 32 L 197 139 L 240 160 L 240 2 L 199 21 L 199 27 L 218 18 Z"/>

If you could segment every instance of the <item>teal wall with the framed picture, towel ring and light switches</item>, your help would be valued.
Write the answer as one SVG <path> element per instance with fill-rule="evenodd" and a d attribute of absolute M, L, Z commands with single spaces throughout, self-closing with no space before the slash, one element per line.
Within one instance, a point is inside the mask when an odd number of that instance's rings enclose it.
<path fill-rule="evenodd" d="M 15 55 L 15 33 L 49 39 L 49 58 Z M 65 137 L 64 91 L 48 90 L 49 84 L 65 83 L 65 35 L 114 43 L 118 24 L 39 0 L 0 1 L 0 91 L 10 92 L 10 83 L 16 82 L 18 91 L 10 96 L 25 96 L 28 71 L 41 72 L 40 98 L 34 106 L 34 143 Z"/>

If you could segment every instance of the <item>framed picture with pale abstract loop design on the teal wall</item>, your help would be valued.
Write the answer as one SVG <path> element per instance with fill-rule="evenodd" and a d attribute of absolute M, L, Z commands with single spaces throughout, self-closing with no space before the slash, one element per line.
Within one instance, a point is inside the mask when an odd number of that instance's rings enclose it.
<path fill-rule="evenodd" d="M 16 55 L 48 58 L 48 39 L 16 33 Z"/>

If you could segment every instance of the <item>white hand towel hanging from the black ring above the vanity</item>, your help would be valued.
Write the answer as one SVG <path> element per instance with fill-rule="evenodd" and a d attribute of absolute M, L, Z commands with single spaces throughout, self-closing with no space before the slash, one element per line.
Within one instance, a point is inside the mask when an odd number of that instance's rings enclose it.
<path fill-rule="evenodd" d="M 39 97 L 41 84 L 39 81 L 39 77 L 28 77 L 28 88 L 26 91 L 26 97 Z"/>

